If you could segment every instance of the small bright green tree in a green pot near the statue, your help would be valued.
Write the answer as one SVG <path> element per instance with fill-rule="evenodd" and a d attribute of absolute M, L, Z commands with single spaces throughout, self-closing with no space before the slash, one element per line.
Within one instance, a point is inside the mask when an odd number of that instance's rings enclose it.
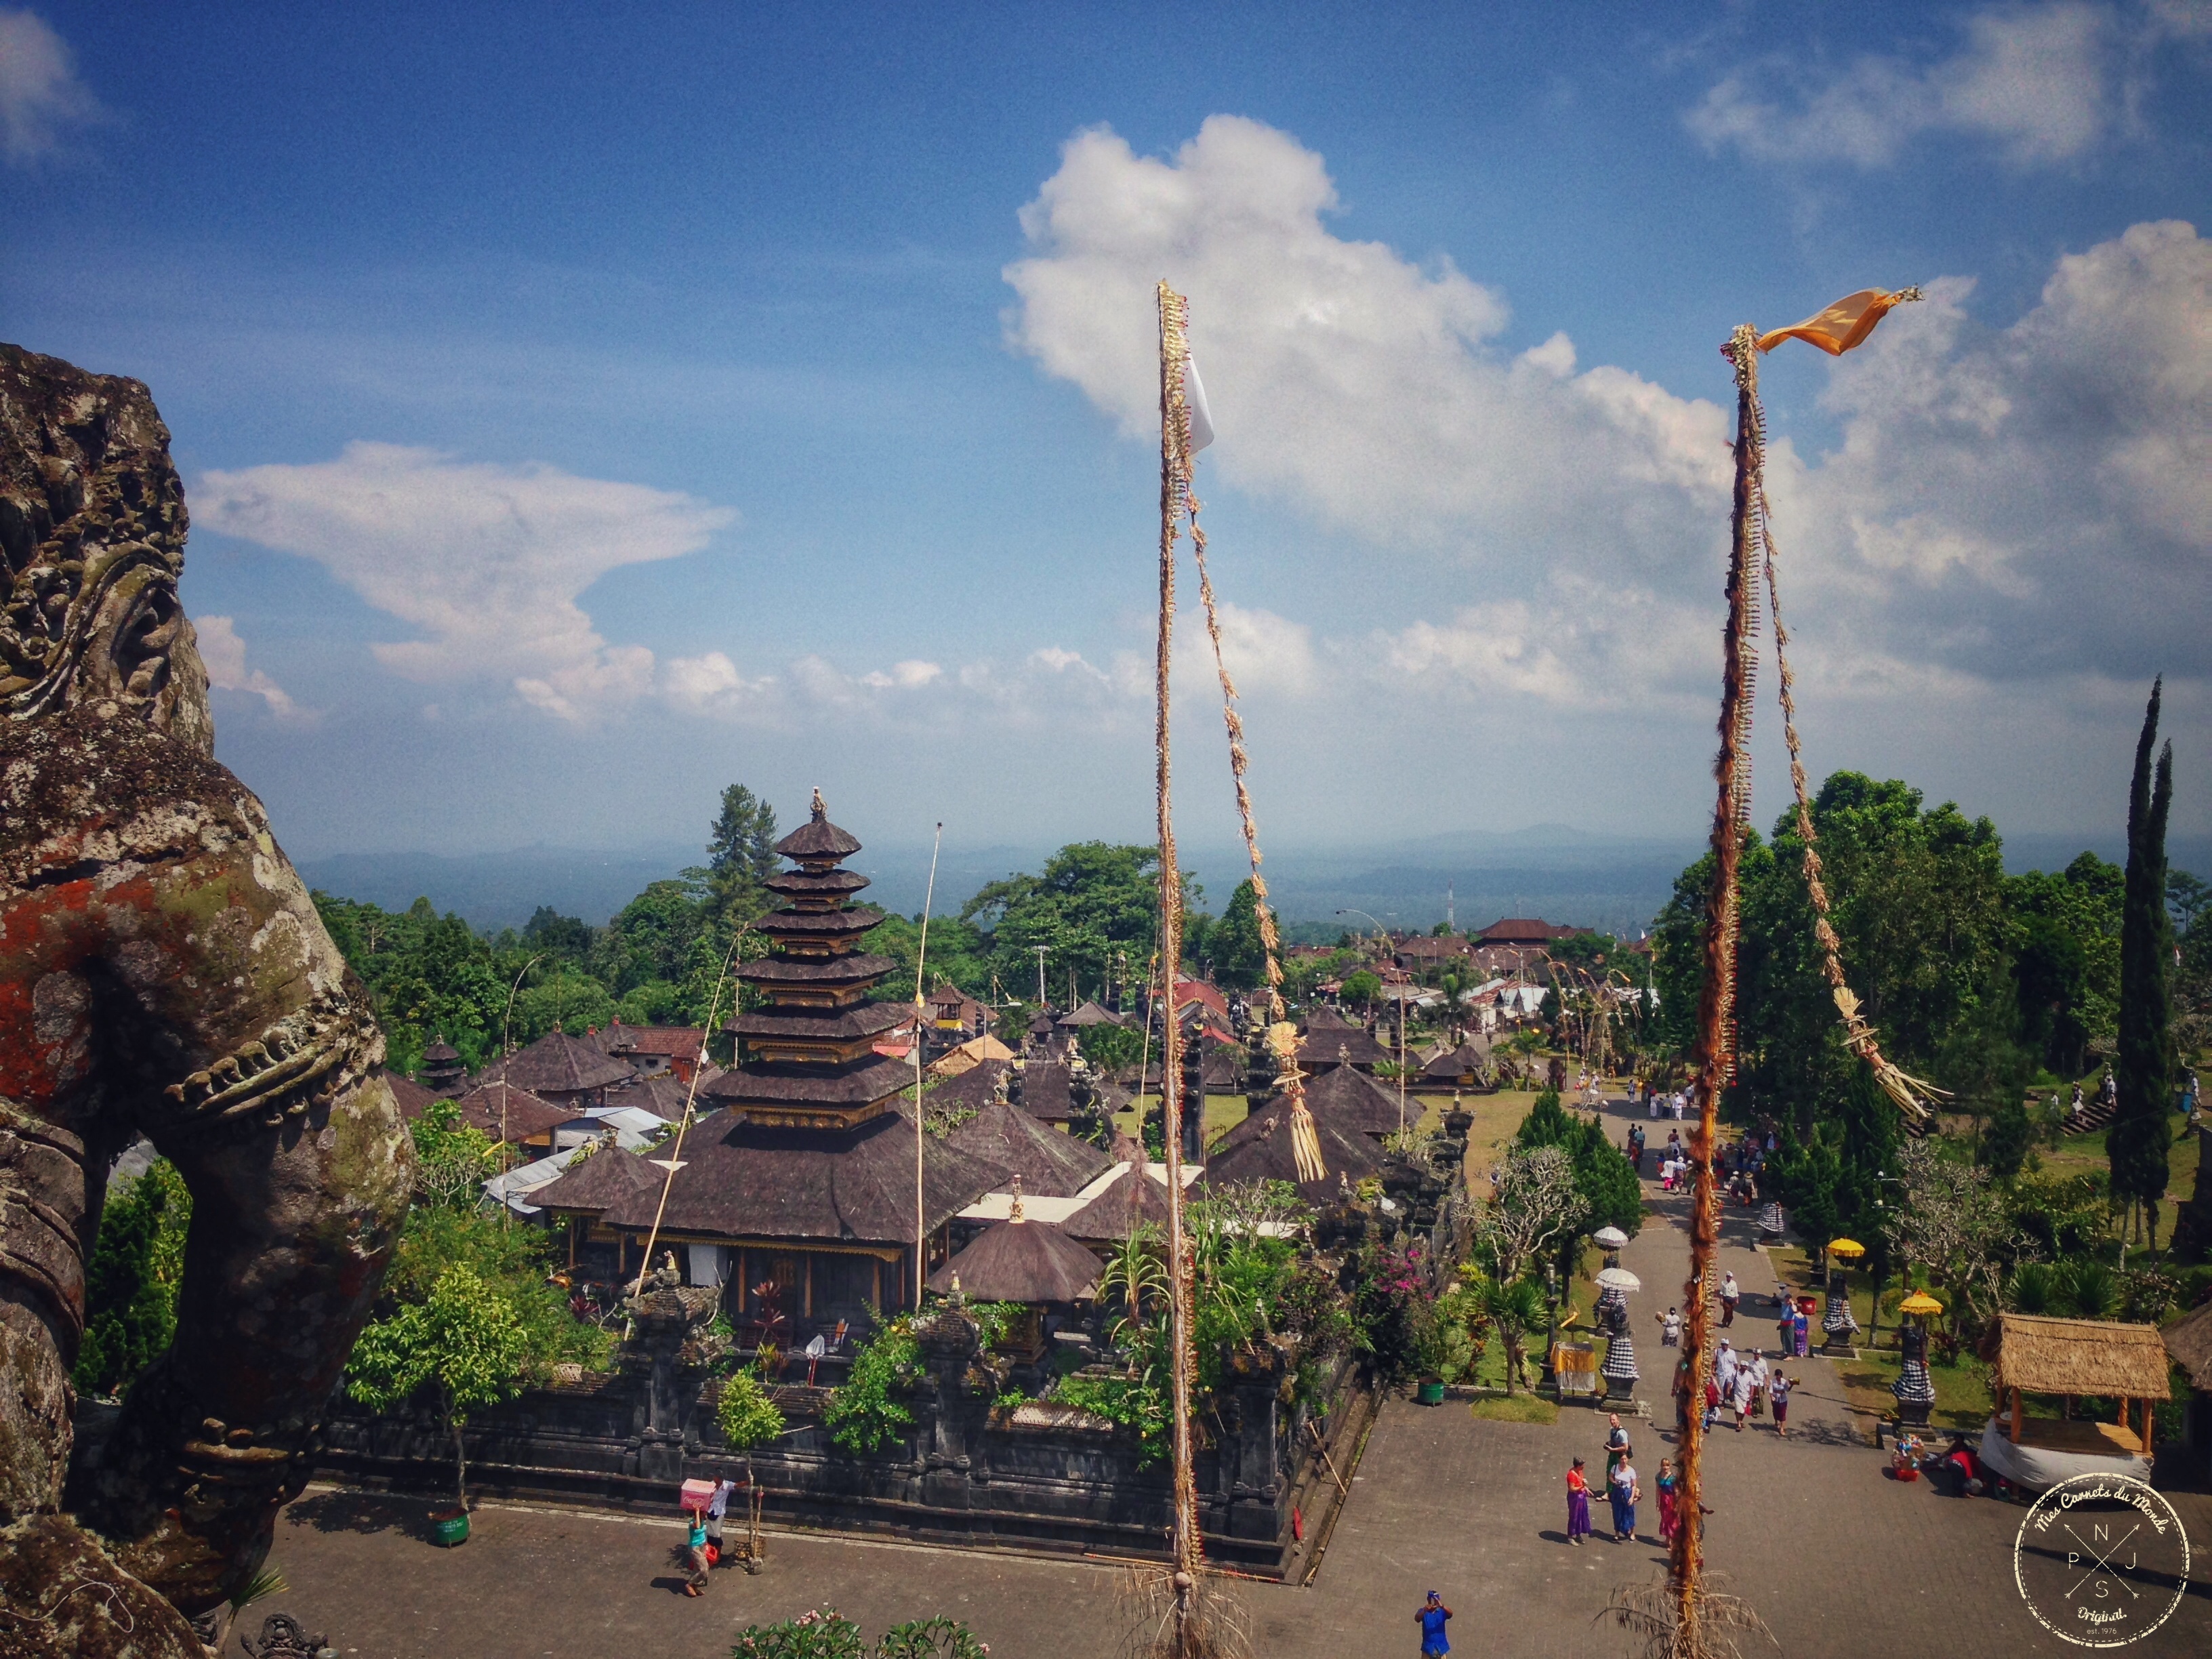
<path fill-rule="evenodd" d="M 453 1500 L 469 1502 L 469 1447 L 462 1429 L 484 1407 L 522 1389 L 529 1338 L 507 1298 L 471 1267 L 449 1265 L 429 1296 L 361 1332 L 347 1360 L 347 1389 L 372 1411 L 387 1411 L 431 1389 L 453 1436 Z"/>

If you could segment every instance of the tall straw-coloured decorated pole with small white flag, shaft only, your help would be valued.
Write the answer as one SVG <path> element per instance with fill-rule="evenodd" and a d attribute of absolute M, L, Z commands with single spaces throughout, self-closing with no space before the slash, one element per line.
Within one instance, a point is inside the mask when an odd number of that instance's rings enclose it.
<path fill-rule="evenodd" d="M 1190 478 L 1190 414 L 1183 403 L 1186 301 L 1159 285 L 1159 650 L 1152 743 L 1159 814 L 1159 1091 L 1168 1155 L 1168 1367 L 1175 1411 L 1175 1652 L 1190 1646 L 1199 1571 L 1199 1493 L 1190 1467 L 1190 1243 L 1183 1237 L 1183 1031 L 1175 1018 L 1175 978 L 1183 960 L 1183 878 L 1175 860 L 1175 814 L 1168 774 L 1168 666 L 1175 653 L 1175 540 Z"/>

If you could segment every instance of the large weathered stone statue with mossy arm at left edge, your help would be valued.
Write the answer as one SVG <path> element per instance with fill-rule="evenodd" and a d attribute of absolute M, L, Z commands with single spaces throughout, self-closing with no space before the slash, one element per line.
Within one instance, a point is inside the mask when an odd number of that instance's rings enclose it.
<path fill-rule="evenodd" d="M 0 345 L 9 1655 L 199 1659 L 186 1617 L 305 1484 L 411 1181 L 361 982 L 212 759 L 184 538 L 146 387 Z M 71 1469 L 84 1263 L 139 1135 L 192 1192 L 177 1338 Z"/>

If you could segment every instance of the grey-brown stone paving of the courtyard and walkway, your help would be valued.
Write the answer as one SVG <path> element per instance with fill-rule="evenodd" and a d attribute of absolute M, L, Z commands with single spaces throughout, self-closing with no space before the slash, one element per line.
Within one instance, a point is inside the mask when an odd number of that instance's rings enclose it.
<path fill-rule="evenodd" d="M 1608 1113 L 1615 1133 L 1621 1110 Z M 1663 1139 L 1663 1133 L 1661 1133 Z M 1652 1197 L 1624 1263 L 1644 1279 L 1632 1298 L 1637 1354 L 1661 1387 L 1652 1314 L 1688 1276 L 1679 1199 Z M 1743 1223 L 1723 1265 L 1745 1285 L 1736 1329 L 1772 1338 L 1763 1321 L 1774 1276 Z M 1752 1298 L 1759 1298 L 1756 1303 Z M 1646 1340 L 1648 1334 L 1648 1340 Z M 2037 1626 L 2013 1588 L 2013 1537 L 2026 1511 L 1938 1498 L 1927 1482 L 1882 1478 L 1882 1458 L 1851 1422 L 1825 1360 L 1798 1360 L 1792 1438 L 1772 1425 L 1719 1429 L 1708 1455 L 1708 1562 L 1772 1626 L 1787 1655 L 1938 1650 L 1958 1659 L 2070 1652 Z M 1668 1455 L 1670 1425 L 1632 1420 L 1646 1491 Z M 1803 1429 L 1803 1438 L 1801 1438 Z M 1484 1422 L 1464 1405 L 1385 1407 L 1354 1475 L 1352 1502 L 1312 1588 L 1241 1584 L 1254 1652 L 1267 1659 L 1416 1652 L 1413 1608 L 1438 1588 L 1455 1610 L 1460 1652 L 1621 1655 L 1601 1621 L 1615 1586 L 1663 1575 L 1657 1506 L 1635 1544 L 1564 1542 L 1568 1458 L 1601 1467 L 1604 1413 L 1562 1411 L 1555 1427 Z M 2192 1593 L 2143 1655 L 2212 1652 L 2212 1498 L 2174 1493 L 2197 1546 Z M 670 1548 L 679 1526 L 582 1511 L 487 1504 L 458 1551 L 422 1542 L 422 1504 L 314 1491 L 276 1528 L 270 1564 L 292 1590 L 270 1601 L 327 1630 L 341 1655 L 365 1659 L 719 1659 L 737 1630 L 821 1601 L 876 1635 L 949 1613 L 1000 1659 L 1106 1659 L 1126 1630 L 1113 1564 L 938 1551 L 843 1537 L 776 1535 L 759 1577 L 726 1571 L 706 1597 L 677 1593 Z"/>

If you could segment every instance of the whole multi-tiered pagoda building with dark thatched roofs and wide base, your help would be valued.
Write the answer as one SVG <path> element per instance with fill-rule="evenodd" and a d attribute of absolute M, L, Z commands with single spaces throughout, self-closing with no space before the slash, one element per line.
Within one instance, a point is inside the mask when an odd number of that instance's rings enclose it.
<path fill-rule="evenodd" d="M 883 920 L 847 902 L 867 885 L 841 869 L 858 849 L 818 794 L 812 821 L 776 843 L 796 869 L 768 880 L 785 900 L 757 922 L 772 951 L 737 969 L 768 1006 L 730 1020 L 741 1060 L 701 1088 L 712 1115 L 679 1159 L 670 1150 L 666 1210 L 637 1194 L 602 1214 L 630 1252 L 657 1221 L 659 1239 L 684 1248 L 686 1279 L 723 1287 L 741 1332 L 765 1292 L 792 1321 L 785 1340 L 911 1307 L 916 1252 L 942 1263 L 951 1219 L 1006 1181 L 998 1164 L 916 1128 L 900 1099 L 914 1068 L 876 1048 L 911 1011 L 869 995 L 896 964 L 858 949 Z"/>

